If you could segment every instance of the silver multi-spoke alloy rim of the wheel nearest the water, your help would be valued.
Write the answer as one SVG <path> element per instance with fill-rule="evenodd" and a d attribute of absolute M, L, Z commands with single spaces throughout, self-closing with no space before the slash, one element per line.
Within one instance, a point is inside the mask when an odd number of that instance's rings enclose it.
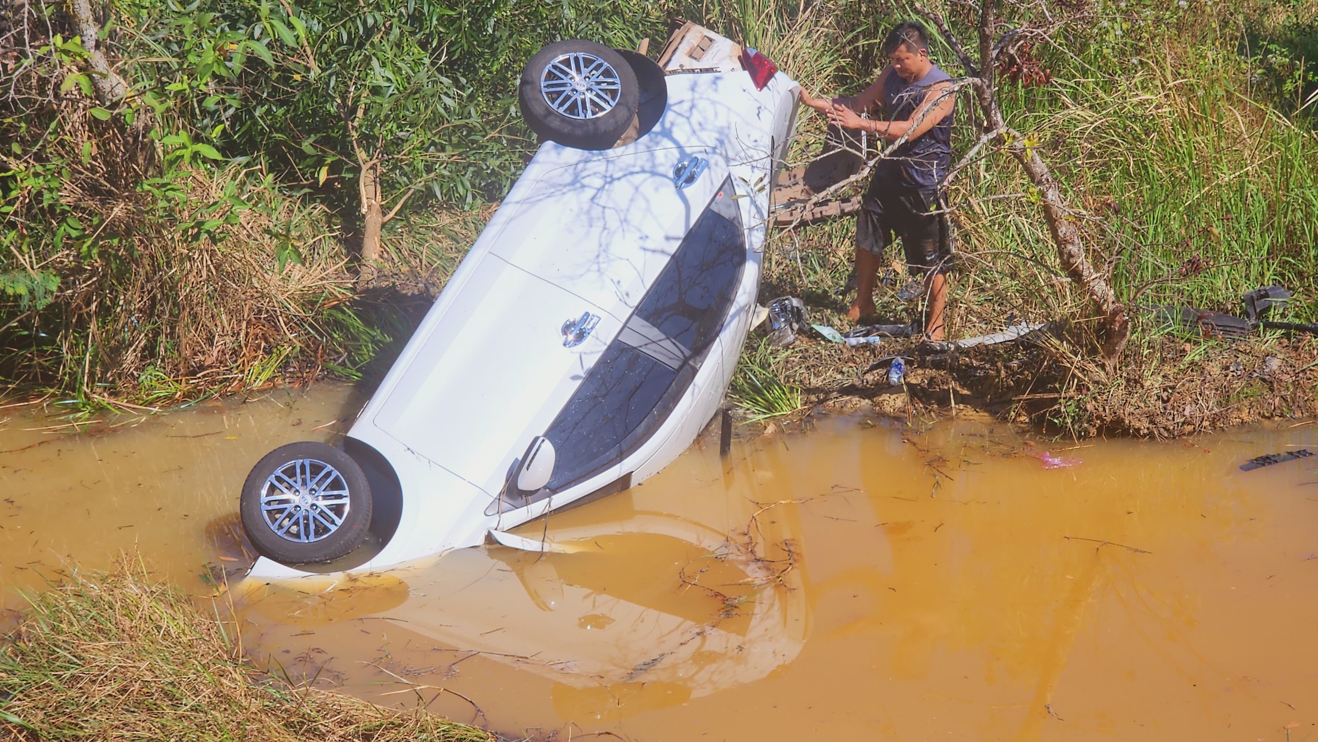
<path fill-rule="evenodd" d="M 348 518 L 348 482 L 318 459 L 282 464 L 261 486 L 261 518 L 281 539 L 312 543 L 328 538 Z"/>

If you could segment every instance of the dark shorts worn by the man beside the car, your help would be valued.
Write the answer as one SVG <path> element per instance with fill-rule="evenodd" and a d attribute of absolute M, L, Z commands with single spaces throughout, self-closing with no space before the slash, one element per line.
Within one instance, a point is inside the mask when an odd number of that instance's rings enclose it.
<path fill-rule="evenodd" d="M 929 214 L 942 211 L 942 214 Z M 946 202 L 936 190 L 875 188 L 871 183 L 855 223 L 855 244 L 883 257 L 902 237 L 912 275 L 944 273 L 952 257 Z"/>

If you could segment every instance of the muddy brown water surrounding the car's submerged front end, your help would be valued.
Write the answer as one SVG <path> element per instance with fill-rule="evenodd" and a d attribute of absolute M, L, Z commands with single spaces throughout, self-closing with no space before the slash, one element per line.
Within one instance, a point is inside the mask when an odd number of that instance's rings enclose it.
<path fill-rule="evenodd" d="M 79 438 L 9 415 L 8 602 L 134 544 L 202 592 L 244 559 L 248 468 L 332 439 L 360 403 L 318 386 Z M 1238 469 L 1314 447 L 1315 427 L 1024 438 L 853 415 L 728 460 L 702 440 L 518 530 L 565 554 L 469 548 L 231 593 L 277 672 L 510 735 L 1318 739 L 1318 471 Z"/>

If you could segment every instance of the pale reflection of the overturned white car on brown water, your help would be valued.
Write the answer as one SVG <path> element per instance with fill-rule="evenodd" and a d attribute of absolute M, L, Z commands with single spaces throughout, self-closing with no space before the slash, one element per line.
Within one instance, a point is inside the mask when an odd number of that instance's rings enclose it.
<path fill-rule="evenodd" d="M 793 555 L 804 535 L 795 505 L 758 502 L 778 490 L 751 474 L 771 465 L 692 451 L 666 481 L 517 530 L 552 544 L 546 554 L 496 546 L 381 575 L 248 580 L 240 614 L 256 634 L 246 641 L 257 658 L 282 656 L 314 630 L 333 660 L 285 671 L 347 673 L 366 693 L 394 691 L 398 676 L 473 693 L 469 683 L 480 676 L 488 688 L 490 671 L 464 664 L 467 680 L 449 679 L 445 663 L 481 655 L 517 671 L 493 677 L 501 695 L 551 681 L 563 718 L 630 716 L 755 683 L 800 655 L 818 600 L 811 564 Z M 847 551 L 857 552 L 863 544 Z"/>

